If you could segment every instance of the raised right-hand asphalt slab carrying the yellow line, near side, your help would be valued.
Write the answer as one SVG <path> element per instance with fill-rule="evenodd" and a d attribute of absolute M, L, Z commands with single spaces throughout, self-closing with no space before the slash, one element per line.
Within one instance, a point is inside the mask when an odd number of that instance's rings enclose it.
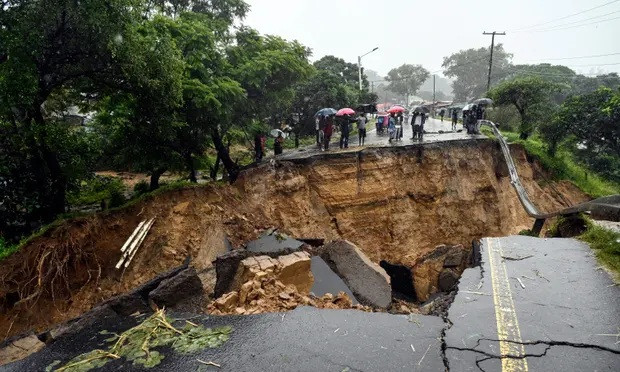
<path fill-rule="evenodd" d="M 526 236 L 483 239 L 481 257 L 481 267 L 463 273 L 449 310 L 452 326 L 444 340 L 451 371 L 479 371 L 476 362 L 497 370 L 502 350 L 525 355 L 532 370 L 582 370 L 574 366 L 584 360 L 595 363 L 589 370 L 620 370 L 620 288 L 599 269 L 586 244 Z M 506 286 L 493 283 L 493 275 L 505 277 L 510 290 L 498 292 Z M 516 321 L 497 322 L 495 301 L 510 305 L 508 298 L 512 305 L 499 311 Z M 520 341 L 500 344 L 498 327 Z"/>

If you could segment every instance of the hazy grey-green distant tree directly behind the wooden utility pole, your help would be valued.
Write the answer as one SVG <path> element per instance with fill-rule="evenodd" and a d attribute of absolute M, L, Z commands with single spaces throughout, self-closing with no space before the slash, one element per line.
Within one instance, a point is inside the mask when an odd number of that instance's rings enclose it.
<path fill-rule="evenodd" d="M 489 54 L 489 48 L 472 48 L 444 57 L 441 65 L 444 68 L 443 74 L 455 79 L 452 83 L 452 89 L 456 101 L 464 102 L 485 95 L 489 72 Z M 502 44 L 495 46 L 491 86 L 508 74 L 511 58 L 512 54 L 504 51 Z"/>

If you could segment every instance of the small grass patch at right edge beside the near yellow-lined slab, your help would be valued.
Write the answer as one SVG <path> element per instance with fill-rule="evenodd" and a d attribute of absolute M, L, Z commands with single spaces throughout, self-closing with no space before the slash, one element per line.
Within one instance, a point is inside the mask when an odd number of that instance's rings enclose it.
<path fill-rule="evenodd" d="M 589 221 L 588 229 L 579 239 L 590 245 L 599 261 L 613 272 L 616 281 L 620 281 L 620 233 Z"/>

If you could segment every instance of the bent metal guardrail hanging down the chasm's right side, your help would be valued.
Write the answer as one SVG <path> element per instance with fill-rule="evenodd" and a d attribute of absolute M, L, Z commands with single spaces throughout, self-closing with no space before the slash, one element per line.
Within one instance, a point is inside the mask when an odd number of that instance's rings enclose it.
<path fill-rule="evenodd" d="M 495 137 L 497 137 L 497 139 L 499 140 L 502 153 L 504 154 L 504 159 L 506 160 L 506 164 L 508 165 L 508 171 L 510 173 L 510 183 L 517 192 L 519 201 L 521 202 L 521 205 L 523 206 L 527 214 L 530 215 L 530 217 L 536 219 L 536 222 L 534 223 L 534 227 L 532 229 L 533 233 L 535 233 L 536 235 L 540 233 L 540 230 L 542 229 L 542 226 L 547 218 L 560 215 L 569 215 L 588 211 L 592 212 L 593 214 L 605 216 L 605 218 L 608 219 L 620 219 L 620 195 L 604 196 L 555 212 L 540 212 L 538 208 L 536 208 L 534 203 L 530 200 L 527 191 L 521 184 L 521 180 L 519 179 L 519 175 L 517 174 L 517 167 L 515 166 L 512 155 L 510 154 L 510 148 L 508 147 L 506 139 L 504 139 L 500 131 L 497 129 L 497 126 L 492 121 L 480 120 L 480 124 L 491 128 L 493 134 L 495 134 Z"/>

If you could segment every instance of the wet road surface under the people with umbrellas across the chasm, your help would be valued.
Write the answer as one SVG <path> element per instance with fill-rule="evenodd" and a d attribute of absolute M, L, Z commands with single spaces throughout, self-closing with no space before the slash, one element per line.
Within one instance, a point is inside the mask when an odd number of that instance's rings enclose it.
<path fill-rule="evenodd" d="M 405 124 L 403 127 L 403 138 L 399 141 L 392 142 L 388 141 L 387 131 L 385 134 L 379 134 L 374 128 L 369 127 L 370 129 L 368 129 L 366 140 L 364 141 L 364 146 L 359 146 L 359 140 L 357 135 L 353 135 L 349 138 L 349 148 L 342 150 L 338 146 L 340 134 L 336 133 L 330 141 L 329 152 L 354 152 L 359 151 L 365 147 L 394 147 L 407 146 L 414 143 L 433 143 L 443 141 L 487 138 L 487 136 L 485 135 L 467 134 L 467 132 L 463 130 L 463 126 L 461 124 L 457 124 L 457 131 L 452 132 L 452 124 L 450 121 L 444 120 L 444 122 L 442 123 L 439 119 L 433 118 L 428 118 L 426 123 L 424 124 L 424 131 L 427 133 L 423 136 L 423 141 L 411 140 L 413 132 L 410 124 Z M 320 153 L 323 152 L 319 150 L 317 146 L 313 145 L 300 149 L 285 150 L 282 155 L 279 155 L 277 157 L 277 159 L 286 160 L 295 158 L 306 158 Z"/>

